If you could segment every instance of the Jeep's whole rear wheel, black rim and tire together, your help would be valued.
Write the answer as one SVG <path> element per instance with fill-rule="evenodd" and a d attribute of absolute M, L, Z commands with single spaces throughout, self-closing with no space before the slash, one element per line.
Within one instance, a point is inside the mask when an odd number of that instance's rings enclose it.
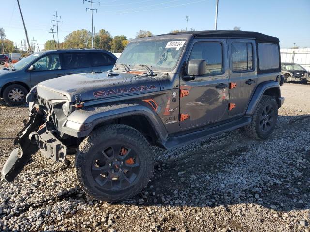
<path fill-rule="evenodd" d="M 278 119 L 278 105 L 272 96 L 264 95 L 252 116 L 252 122 L 245 126 L 246 134 L 254 139 L 266 139 L 274 130 Z"/>

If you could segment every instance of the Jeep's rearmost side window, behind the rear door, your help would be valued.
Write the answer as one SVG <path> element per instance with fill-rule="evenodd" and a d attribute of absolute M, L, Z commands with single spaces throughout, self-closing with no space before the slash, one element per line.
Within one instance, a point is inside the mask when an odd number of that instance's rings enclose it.
<path fill-rule="evenodd" d="M 258 43 L 260 70 L 279 69 L 279 48 L 274 43 Z"/>

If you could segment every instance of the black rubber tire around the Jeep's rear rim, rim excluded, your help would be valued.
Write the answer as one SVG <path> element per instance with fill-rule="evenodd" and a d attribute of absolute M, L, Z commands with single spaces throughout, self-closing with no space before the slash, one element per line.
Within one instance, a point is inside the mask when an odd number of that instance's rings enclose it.
<path fill-rule="evenodd" d="M 273 121 L 268 131 L 263 131 L 261 128 L 262 114 L 265 108 L 270 105 L 273 108 Z M 258 103 L 255 112 L 252 116 L 252 122 L 244 127 L 246 134 L 253 139 L 266 139 L 274 130 L 278 118 L 278 105 L 277 101 L 272 96 L 263 95 L 261 101 Z"/>

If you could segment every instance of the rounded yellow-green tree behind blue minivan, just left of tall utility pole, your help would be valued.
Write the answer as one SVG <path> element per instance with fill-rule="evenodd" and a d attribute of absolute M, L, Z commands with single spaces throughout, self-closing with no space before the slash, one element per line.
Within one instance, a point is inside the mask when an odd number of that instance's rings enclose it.
<path fill-rule="evenodd" d="M 63 48 L 87 48 L 92 45 L 92 37 L 86 29 L 75 30 L 64 37 Z"/>

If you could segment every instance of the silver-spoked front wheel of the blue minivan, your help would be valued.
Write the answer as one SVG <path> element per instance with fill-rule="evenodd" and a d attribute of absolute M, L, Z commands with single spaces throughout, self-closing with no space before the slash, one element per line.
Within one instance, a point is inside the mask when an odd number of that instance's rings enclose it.
<path fill-rule="evenodd" d="M 26 102 L 27 93 L 25 87 L 13 84 L 4 89 L 3 98 L 9 105 L 21 105 Z"/>

